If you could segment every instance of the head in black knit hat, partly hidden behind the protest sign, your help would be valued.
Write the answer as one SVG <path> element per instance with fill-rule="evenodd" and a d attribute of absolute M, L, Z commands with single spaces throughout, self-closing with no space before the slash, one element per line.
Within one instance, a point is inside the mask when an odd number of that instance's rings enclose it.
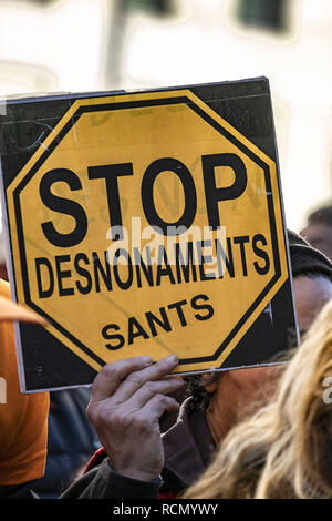
<path fill-rule="evenodd" d="M 288 238 L 298 324 L 303 336 L 332 298 L 332 263 L 298 234 L 289 231 Z M 268 399 L 281 369 L 280 366 L 267 366 L 191 377 L 188 379 L 191 407 L 207 410 L 211 417 L 219 413 L 221 397 L 229 413 L 234 415 L 229 421 L 237 421 Z"/>

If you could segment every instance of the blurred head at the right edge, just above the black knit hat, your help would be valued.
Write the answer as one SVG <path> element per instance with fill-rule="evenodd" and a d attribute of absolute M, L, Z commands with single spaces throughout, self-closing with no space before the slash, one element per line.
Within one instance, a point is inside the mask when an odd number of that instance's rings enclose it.
<path fill-rule="evenodd" d="M 301 235 L 314 247 L 332 259 L 332 204 L 312 212 Z"/>

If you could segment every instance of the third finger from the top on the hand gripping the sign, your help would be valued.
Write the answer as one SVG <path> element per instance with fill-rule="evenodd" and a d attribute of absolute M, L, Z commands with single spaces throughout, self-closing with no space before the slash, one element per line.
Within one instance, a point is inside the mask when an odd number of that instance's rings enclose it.
<path fill-rule="evenodd" d="M 180 389 L 184 385 L 181 378 L 165 378 L 163 380 L 147 381 L 125 400 L 128 410 L 142 409 L 155 395 L 167 395 Z"/>

